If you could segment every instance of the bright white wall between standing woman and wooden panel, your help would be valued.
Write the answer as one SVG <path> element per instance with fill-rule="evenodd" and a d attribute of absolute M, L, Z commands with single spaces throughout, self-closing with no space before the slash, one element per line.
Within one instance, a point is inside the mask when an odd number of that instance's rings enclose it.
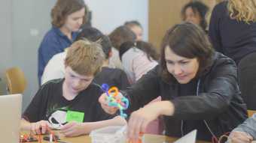
<path fill-rule="evenodd" d="M 138 20 L 148 40 L 148 0 L 84 0 L 92 11 L 92 25 L 105 34 L 128 20 Z"/>

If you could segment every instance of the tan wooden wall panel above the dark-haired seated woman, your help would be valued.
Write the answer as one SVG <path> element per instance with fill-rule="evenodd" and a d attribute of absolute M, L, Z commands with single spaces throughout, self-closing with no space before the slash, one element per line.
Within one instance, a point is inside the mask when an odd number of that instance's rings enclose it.
<path fill-rule="evenodd" d="M 148 40 L 160 48 L 166 30 L 181 22 L 181 8 L 190 0 L 149 0 Z"/>

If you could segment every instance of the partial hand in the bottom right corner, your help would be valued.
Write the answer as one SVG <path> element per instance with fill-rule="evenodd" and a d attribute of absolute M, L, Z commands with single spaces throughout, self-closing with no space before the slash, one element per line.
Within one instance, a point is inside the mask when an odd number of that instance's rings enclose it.
<path fill-rule="evenodd" d="M 252 136 L 248 135 L 248 133 L 237 131 L 230 133 L 230 136 L 228 137 L 230 143 L 250 143 L 252 140 Z"/>

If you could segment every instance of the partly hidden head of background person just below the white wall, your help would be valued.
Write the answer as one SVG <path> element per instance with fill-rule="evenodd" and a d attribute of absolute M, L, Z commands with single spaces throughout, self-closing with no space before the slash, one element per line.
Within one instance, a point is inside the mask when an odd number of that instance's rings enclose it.
<path fill-rule="evenodd" d="M 136 34 L 136 40 L 143 40 L 143 28 L 138 21 L 136 20 L 128 21 L 128 22 L 125 22 L 124 25 L 126 25 Z"/>

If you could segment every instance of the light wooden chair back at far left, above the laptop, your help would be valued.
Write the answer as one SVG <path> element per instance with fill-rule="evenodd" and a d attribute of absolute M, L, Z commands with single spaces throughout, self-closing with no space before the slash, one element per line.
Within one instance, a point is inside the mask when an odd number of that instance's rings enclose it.
<path fill-rule="evenodd" d="M 23 94 L 26 89 L 26 78 L 19 67 L 11 67 L 5 71 L 9 94 Z"/>

